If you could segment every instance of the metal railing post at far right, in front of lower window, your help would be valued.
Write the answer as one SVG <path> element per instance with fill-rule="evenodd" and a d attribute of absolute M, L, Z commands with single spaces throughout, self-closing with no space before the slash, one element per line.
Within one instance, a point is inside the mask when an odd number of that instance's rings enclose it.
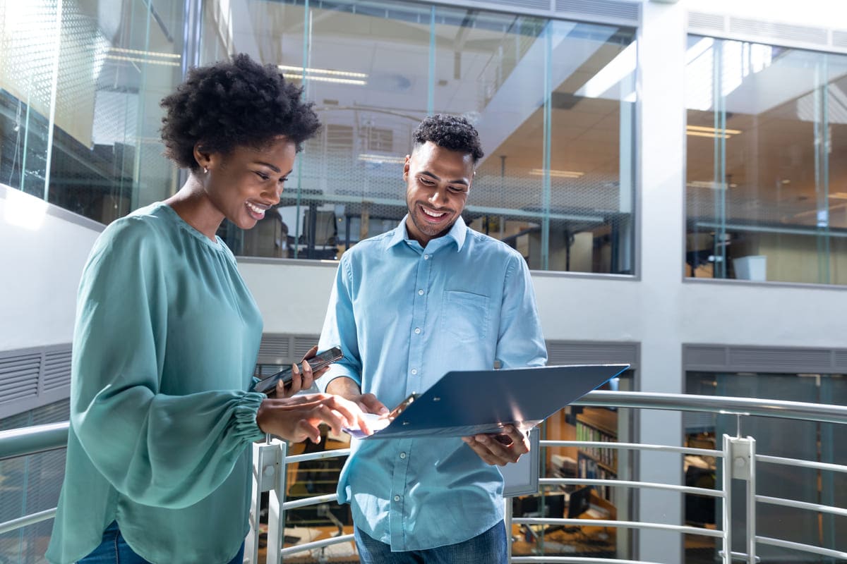
<path fill-rule="evenodd" d="M 756 564 L 756 440 L 723 435 L 723 562 L 744 560 Z M 732 484 L 733 479 L 745 481 L 745 544 L 746 552 L 732 551 Z"/>

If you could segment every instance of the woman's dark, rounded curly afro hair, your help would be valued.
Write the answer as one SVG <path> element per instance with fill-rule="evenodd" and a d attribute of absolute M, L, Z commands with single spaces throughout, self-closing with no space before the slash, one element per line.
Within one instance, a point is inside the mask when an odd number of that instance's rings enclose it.
<path fill-rule="evenodd" d="M 285 81 L 274 65 L 246 54 L 232 61 L 191 68 L 176 91 L 160 105 L 165 155 L 196 171 L 194 145 L 227 155 L 239 146 L 262 147 L 278 135 L 303 141 L 320 127 L 312 102 L 301 100 L 302 88 Z"/>

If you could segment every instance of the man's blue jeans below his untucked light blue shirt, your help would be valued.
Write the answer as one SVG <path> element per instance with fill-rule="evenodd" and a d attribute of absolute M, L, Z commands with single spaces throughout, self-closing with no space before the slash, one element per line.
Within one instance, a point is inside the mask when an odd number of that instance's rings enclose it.
<path fill-rule="evenodd" d="M 428 550 L 391 552 L 391 547 L 374 540 L 358 527 L 356 548 L 362 564 L 507 564 L 506 526 L 501 521 L 483 534 L 455 545 Z"/>

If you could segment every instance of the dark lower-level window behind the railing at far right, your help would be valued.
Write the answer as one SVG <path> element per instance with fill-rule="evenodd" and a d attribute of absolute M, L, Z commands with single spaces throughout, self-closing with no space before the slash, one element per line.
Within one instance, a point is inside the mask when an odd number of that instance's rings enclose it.
<path fill-rule="evenodd" d="M 843 375 L 817 374 L 710 374 L 689 372 L 686 375 L 686 392 L 725 397 L 768 398 L 795 402 L 843 403 L 847 379 Z M 756 440 L 756 453 L 775 457 L 798 458 L 826 463 L 845 463 L 839 455 L 839 439 L 844 438 L 844 425 L 818 424 L 813 421 L 745 417 L 737 428 L 734 415 L 713 413 L 685 413 L 684 432 L 687 446 L 722 448 L 722 435 L 752 436 Z M 697 480 L 709 478 L 718 485 L 722 481 L 721 468 L 704 457 L 685 457 L 686 485 L 697 485 Z M 823 503 L 844 507 L 844 479 L 840 473 L 819 472 L 771 463 L 756 465 L 756 494 L 781 499 Z M 708 487 L 708 486 L 704 486 Z M 742 504 L 743 505 L 743 504 Z M 738 507 L 734 507 L 734 510 Z M 743 509 L 743 507 L 742 507 Z M 720 523 L 721 507 L 702 496 L 686 496 L 685 519 L 689 523 Z M 744 538 L 745 514 L 733 513 L 739 526 L 734 531 L 737 539 Z M 823 545 L 835 550 L 845 550 L 843 540 L 834 534 L 841 517 L 819 517 L 810 512 L 791 507 L 757 504 L 756 534 L 773 539 L 784 539 L 806 545 Z M 717 557 L 719 547 L 705 537 L 698 541 L 686 540 L 686 561 L 695 557 Z M 734 550 L 744 550 L 734 546 Z M 757 555 L 763 561 L 781 561 L 796 553 L 768 545 L 759 545 Z M 690 559 L 689 559 L 690 556 Z M 699 560 L 698 560 L 699 561 Z M 703 560 L 706 561 L 706 560 Z M 805 556 L 803 561 L 825 561 L 822 557 Z"/>

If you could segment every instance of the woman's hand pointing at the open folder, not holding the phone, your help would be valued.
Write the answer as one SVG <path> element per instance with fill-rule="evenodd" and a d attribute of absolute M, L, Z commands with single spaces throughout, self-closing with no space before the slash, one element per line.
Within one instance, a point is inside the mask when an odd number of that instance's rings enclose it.
<path fill-rule="evenodd" d="M 335 434 L 343 427 L 358 427 L 373 434 L 356 403 L 331 394 L 303 394 L 296 397 L 268 397 L 259 405 L 256 423 L 260 430 L 288 441 L 320 441 L 318 425 L 328 424 Z"/>

